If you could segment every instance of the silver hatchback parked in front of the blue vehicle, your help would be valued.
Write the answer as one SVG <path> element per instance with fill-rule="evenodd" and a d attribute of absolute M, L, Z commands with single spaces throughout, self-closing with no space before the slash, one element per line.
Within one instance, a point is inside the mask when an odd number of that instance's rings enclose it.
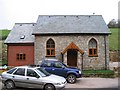
<path fill-rule="evenodd" d="M 64 88 L 67 83 L 64 77 L 49 74 L 44 69 L 34 66 L 19 66 L 3 72 L 2 82 L 10 90 L 15 87 L 56 90 Z"/>

